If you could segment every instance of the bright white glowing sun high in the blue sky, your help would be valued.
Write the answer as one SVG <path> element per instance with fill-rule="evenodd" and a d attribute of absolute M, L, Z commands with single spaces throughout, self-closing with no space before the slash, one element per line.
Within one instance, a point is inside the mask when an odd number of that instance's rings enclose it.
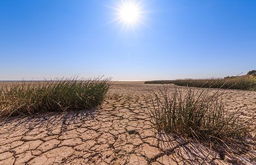
<path fill-rule="evenodd" d="M 141 1 L 135 0 L 122 0 L 115 8 L 116 19 L 120 24 L 126 27 L 135 28 L 143 23 L 143 7 Z"/>

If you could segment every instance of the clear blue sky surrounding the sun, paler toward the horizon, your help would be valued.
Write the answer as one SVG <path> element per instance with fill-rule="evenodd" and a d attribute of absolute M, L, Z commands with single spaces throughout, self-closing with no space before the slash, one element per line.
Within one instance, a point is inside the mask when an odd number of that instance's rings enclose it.
<path fill-rule="evenodd" d="M 0 80 L 166 80 L 256 69 L 254 0 L 144 0 L 135 28 L 114 21 L 120 4 L 1 0 Z"/>

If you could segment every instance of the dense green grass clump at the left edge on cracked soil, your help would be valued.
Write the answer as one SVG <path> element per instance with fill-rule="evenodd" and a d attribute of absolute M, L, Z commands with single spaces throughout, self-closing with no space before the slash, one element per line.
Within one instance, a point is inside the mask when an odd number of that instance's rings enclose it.
<path fill-rule="evenodd" d="M 102 104 L 110 79 L 55 79 L 0 86 L 0 117 L 95 108 Z"/>

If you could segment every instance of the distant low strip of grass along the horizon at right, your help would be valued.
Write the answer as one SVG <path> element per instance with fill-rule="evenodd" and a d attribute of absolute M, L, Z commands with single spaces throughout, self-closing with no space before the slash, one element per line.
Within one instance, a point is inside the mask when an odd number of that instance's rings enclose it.
<path fill-rule="evenodd" d="M 145 84 L 175 84 L 180 86 L 193 86 L 193 87 L 200 87 L 200 88 L 256 90 L 256 77 L 239 76 L 239 77 L 226 77 L 225 79 L 183 79 L 183 80 L 145 81 Z"/>

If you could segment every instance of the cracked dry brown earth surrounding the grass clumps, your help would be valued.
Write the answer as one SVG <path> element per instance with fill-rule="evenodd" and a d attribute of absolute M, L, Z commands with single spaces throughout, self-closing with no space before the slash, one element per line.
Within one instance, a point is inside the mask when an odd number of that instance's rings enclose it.
<path fill-rule="evenodd" d="M 201 143 L 170 137 L 160 143 L 148 109 L 162 85 L 119 82 L 102 108 L 20 117 L 0 126 L 0 164 L 256 164 L 255 148 L 231 155 Z M 170 89 L 173 86 L 170 85 Z M 182 88 L 185 90 L 185 88 Z M 225 90 L 228 109 L 256 116 L 256 94 Z M 168 153 L 164 152 L 168 148 Z"/>

